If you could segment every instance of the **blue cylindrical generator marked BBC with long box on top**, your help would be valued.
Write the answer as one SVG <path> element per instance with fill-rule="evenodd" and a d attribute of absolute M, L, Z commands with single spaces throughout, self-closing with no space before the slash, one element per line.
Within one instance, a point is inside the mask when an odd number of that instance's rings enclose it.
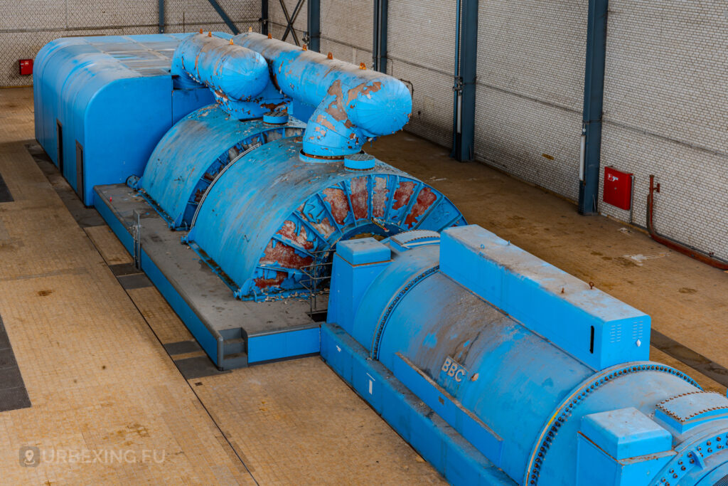
<path fill-rule="evenodd" d="M 728 399 L 645 361 L 648 316 L 480 227 L 436 237 L 339 243 L 328 323 L 494 466 L 525 485 L 696 485 L 728 474 Z M 606 338 L 590 340 L 584 326 Z M 369 386 L 357 389 L 375 400 Z"/>

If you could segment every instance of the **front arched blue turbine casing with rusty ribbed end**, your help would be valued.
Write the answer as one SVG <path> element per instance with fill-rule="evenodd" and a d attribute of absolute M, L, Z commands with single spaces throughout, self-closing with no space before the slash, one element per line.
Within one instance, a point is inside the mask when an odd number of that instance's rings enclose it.
<path fill-rule="evenodd" d="M 282 138 L 229 165 L 185 238 L 237 297 L 305 293 L 342 239 L 464 224 L 440 192 L 384 162 L 350 171 L 300 152 L 300 138 Z"/>

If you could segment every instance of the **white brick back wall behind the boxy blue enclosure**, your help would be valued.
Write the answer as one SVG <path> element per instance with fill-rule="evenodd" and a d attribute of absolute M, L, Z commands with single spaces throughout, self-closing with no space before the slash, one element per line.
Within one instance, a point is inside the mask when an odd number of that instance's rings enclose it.
<path fill-rule="evenodd" d="M 258 30 L 259 0 L 220 0 L 240 31 Z M 165 0 L 166 32 L 226 31 L 207 0 Z M 35 58 L 58 37 L 157 34 L 156 0 L 14 0 L 0 2 L 0 86 L 31 85 L 17 60 Z"/>

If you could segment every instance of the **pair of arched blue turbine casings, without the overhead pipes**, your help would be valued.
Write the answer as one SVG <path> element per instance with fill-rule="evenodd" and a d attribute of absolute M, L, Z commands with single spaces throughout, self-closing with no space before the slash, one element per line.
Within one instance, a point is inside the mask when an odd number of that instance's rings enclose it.
<path fill-rule="evenodd" d="M 304 127 L 207 106 L 162 138 L 132 185 L 241 299 L 305 294 L 340 240 L 464 224 L 447 197 L 374 157 L 300 160 Z"/>

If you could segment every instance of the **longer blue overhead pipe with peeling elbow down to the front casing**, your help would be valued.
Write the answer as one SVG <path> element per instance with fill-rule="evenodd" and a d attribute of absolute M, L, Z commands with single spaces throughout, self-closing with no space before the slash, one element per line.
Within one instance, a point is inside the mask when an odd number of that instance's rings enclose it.
<path fill-rule="evenodd" d="M 412 97 L 399 79 L 261 34 L 234 39 L 263 55 L 283 93 L 316 107 L 304 133 L 305 154 L 354 154 L 366 141 L 395 133 L 409 120 Z"/>

